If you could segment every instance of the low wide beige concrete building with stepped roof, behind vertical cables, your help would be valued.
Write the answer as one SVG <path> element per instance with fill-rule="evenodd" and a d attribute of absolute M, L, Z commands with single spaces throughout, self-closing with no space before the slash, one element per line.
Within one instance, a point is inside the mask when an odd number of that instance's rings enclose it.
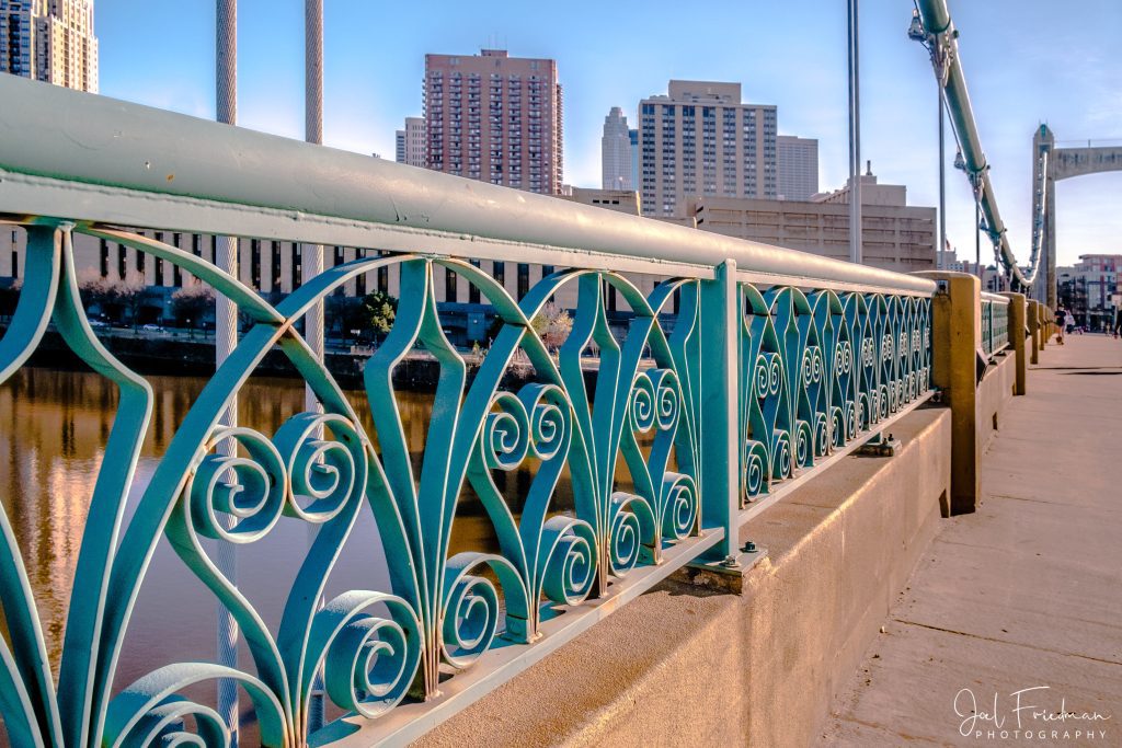
<path fill-rule="evenodd" d="M 870 190 L 865 200 L 865 185 Z M 936 211 L 907 205 L 901 185 L 862 177 L 862 246 L 865 265 L 911 273 L 934 270 Z M 889 197 L 892 200 L 889 200 Z M 690 201 L 697 228 L 765 244 L 849 259 L 848 191 L 818 201 L 767 201 L 699 196 Z"/>

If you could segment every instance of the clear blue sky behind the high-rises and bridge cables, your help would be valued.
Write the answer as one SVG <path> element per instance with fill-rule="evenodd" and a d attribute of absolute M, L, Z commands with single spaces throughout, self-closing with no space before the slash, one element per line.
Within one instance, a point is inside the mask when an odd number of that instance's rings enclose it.
<path fill-rule="evenodd" d="M 421 113 L 424 54 L 494 45 L 558 61 L 570 184 L 599 186 L 608 109 L 623 107 L 634 126 L 640 99 L 664 93 L 671 77 L 743 83 L 746 101 L 779 107 L 780 132 L 818 138 L 822 190 L 846 178 L 843 0 L 324 4 L 327 145 L 392 158 L 394 130 Z M 1047 121 L 1060 145 L 1122 142 L 1122 2 L 949 4 L 1002 215 L 1026 257 L 1036 126 Z M 102 94 L 213 117 L 213 0 L 96 0 L 95 9 Z M 936 205 L 936 84 L 905 35 L 911 2 L 864 0 L 861 10 L 862 156 L 882 182 L 908 185 L 911 204 Z M 302 138 L 302 0 L 241 0 L 238 36 L 239 124 Z M 1122 252 L 1120 187 L 1122 174 L 1059 183 L 1061 264 Z M 973 200 L 949 165 L 947 192 L 948 236 L 973 257 Z"/>

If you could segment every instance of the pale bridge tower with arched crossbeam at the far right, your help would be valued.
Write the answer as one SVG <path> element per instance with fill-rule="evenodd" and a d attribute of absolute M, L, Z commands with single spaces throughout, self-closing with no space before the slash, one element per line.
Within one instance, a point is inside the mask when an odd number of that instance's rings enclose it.
<path fill-rule="evenodd" d="M 1040 155 L 1048 153 L 1043 194 L 1033 191 L 1032 214 L 1040 215 L 1040 201 L 1045 201 L 1043 225 L 1033 227 L 1043 231 L 1040 262 L 1043 273 L 1037 276 L 1034 295 L 1056 308 L 1056 183 L 1086 174 L 1122 172 L 1122 146 L 1092 146 L 1085 148 L 1056 148 L 1056 137 L 1047 124 L 1037 128 L 1032 136 L 1032 184 L 1040 184 Z M 1042 284 L 1042 285 L 1041 285 Z"/>

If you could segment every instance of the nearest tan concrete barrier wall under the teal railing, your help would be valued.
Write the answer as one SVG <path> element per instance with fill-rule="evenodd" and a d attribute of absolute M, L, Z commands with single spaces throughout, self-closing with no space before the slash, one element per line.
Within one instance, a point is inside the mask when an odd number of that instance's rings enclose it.
<path fill-rule="evenodd" d="M 752 521 L 770 555 L 743 595 L 669 581 L 426 735 L 419 746 L 803 746 L 934 537 L 950 414 L 893 425 Z"/>

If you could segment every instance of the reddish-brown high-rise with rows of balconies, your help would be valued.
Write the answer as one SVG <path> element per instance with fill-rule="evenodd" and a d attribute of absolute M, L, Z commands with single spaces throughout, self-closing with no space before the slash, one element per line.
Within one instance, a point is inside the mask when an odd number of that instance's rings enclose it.
<path fill-rule="evenodd" d="M 543 194 L 561 193 L 562 99 L 557 62 L 425 55 L 427 166 Z"/>

